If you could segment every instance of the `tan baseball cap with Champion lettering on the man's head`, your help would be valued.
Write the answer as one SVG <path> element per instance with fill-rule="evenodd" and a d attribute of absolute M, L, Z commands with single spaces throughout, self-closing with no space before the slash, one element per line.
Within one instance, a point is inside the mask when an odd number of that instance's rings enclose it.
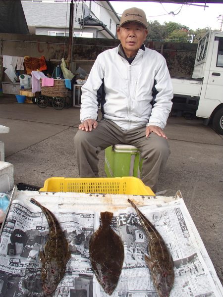
<path fill-rule="evenodd" d="M 142 24 L 145 28 L 148 27 L 144 10 L 137 7 L 131 7 L 123 11 L 119 27 L 127 22 L 137 22 Z"/>

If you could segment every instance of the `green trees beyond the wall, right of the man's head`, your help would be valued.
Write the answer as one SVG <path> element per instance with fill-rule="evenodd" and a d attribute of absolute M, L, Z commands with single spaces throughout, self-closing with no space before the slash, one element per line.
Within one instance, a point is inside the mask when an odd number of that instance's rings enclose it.
<path fill-rule="evenodd" d="M 165 22 L 161 25 L 158 21 L 150 21 L 148 22 L 148 30 L 147 39 L 152 41 L 186 43 L 192 40 L 193 43 L 198 43 L 209 28 L 198 28 L 194 31 L 180 23 Z"/>

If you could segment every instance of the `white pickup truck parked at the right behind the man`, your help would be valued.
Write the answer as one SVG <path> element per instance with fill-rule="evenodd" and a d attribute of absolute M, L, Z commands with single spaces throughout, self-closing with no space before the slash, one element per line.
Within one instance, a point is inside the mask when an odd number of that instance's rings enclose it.
<path fill-rule="evenodd" d="M 223 135 L 223 32 L 210 31 L 199 41 L 192 78 L 171 80 L 172 111 L 196 114 Z"/>

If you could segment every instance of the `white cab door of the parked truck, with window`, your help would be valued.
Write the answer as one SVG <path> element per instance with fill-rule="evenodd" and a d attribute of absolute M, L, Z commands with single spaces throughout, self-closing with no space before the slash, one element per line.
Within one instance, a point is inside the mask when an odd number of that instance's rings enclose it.
<path fill-rule="evenodd" d="M 215 37 L 204 98 L 223 102 L 223 37 Z"/>

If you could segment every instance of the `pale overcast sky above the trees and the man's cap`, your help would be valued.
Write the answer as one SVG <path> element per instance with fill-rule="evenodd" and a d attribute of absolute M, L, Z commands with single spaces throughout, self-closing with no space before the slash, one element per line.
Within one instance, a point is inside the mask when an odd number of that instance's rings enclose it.
<path fill-rule="evenodd" d="M 198 3 L 205 5 L 204 3 Z M 146 12 L 148 21 L 159 21 L 161 24 L 166 22 L 176 22 L 196 30 L 197 28 L 209 27 L 212 30 L 221 28 L 221 20 L 218 20 L 220 14 L 223 15 L 223 4 L 210 4 L 209 7 L 201 7 L 186 4 L 139 2 L 139 1 L 111 1 L 111 5 L 117 14 L 129 7 L 139 7 Z M 173 15 L 173 12 L 176 15 Z M 169 14 L 170 13 L 170 14 Z M 177 14 L 178 13 L 178 14 Z M 223 30 L 223 26 L 222 26 Z"/>

